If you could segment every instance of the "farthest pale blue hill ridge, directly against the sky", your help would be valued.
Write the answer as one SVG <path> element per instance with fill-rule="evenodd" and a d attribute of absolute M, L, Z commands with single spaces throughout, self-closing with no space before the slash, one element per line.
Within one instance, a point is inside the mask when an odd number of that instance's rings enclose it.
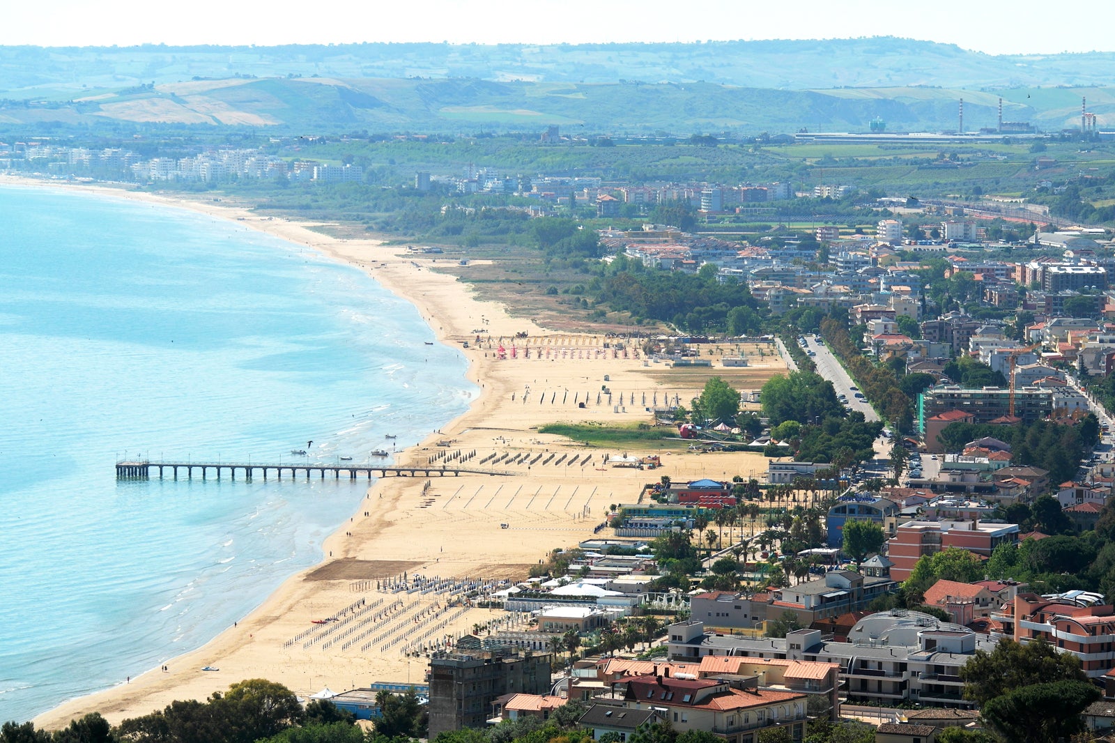
<path fill-rule="evenodd" d="M 549 83 L 717 83 L 756 88 L 1099 86 L 1115 52 L 993 56 L 872 37 L 691 44 L 349 44 L 277 47 L 0 47 L 0 93 L 192 77 L 475 77 Z"/>

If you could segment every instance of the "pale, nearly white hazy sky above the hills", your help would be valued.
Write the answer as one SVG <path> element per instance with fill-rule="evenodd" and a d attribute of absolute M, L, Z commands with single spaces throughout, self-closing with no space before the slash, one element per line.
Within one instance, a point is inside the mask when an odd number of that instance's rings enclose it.
<path fill-rule="evenodd" d="M 0 45 L 697 41 L 901 36 L 987 54 L 1115 50 L 1115 3 L 1046 0 L 51 0 Z"/>

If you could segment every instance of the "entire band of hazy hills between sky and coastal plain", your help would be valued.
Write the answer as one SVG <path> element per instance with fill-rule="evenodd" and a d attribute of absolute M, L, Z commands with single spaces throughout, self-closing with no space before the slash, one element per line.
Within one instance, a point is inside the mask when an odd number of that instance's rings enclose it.
<path fill-rule="evenodd" d="M 345 132 L 692 134 L 1115 127 L 1115 54 L 899 39 L 705 44 L 0 47 L 0 127 L 108 120 Z M 1094 87 L 1082 87 L 1094 86 Z M 583 128 L 582 128 L 583 127 Z"/>

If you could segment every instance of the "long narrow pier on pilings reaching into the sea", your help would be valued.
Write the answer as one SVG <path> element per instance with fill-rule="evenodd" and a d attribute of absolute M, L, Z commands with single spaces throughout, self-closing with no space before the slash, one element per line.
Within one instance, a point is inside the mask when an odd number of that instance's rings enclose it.
<path fill-rule="evenodd" d="M 211 474 L 215 480 L 221 479 L 221 473 L 225 472 L 229 479 L 232 481 L 236 480 L 236 473 L 241 474 L 241 479 L 245 482 L 251 482 L 255 476 L 262 476 L 264 482 L 268 480 L 268 473 L 272 473 L 275 480 L 282 480 L 283 473 L 290 473 L 290 479 L 298 479 L 300 472 L 306 473 L 306 480 L 310 480 L 313 474 L 319 475 L 320 480 L 326 479 L 326 474 L 330 473 L 333 475 L 334 480 L 341 479 L 341 473 L 345 473 L 347 480 L 358 480 L 360 476 L 367 476 L 368 480 L 375 475 L 377 477 L 389 477 L 391 475 L 396 477 L 432 477 L 437 475 L 439 477 L 445 477 L 448 475 L 459 476 L 462 474 L 485 474 L 485 475 L 496 475 L 496 476 L 508 476 L 516 474 L 514 472 L 506 472 L 502 470 L 484 470 L 481 467 L 453 467 L 453 466 L 385 466 L 378 464 L 263 464 L 256 462 L 149 462 L 149 461 L 133 461 L 133 462 L 117 462 L 116 463 L 116 479 L 117 480 L 149 480 L 153 474 L 157 471 L 158 479 L 163 480 L 164 476 L 169 476 L 174 480 L 178 479 L 180 471 L 187 480 L 194 479 L 194 473 L 201 475 L 202 480 L 206 480 Z"/>

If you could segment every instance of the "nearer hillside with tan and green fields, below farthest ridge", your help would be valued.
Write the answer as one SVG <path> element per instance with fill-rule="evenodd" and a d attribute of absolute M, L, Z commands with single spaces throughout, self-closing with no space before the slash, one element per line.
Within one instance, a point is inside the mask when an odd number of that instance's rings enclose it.
<path fill-rule="evenodd" d="M 457 134 L 541 131 L 556 124 L 566 132 L 592 134 L 754 136 L 802 128 L 865 131 L 872 118 L 881 116 L 889 131 L 940 131 L 957 127 L 957 100 L 961 97 L 968 131 L 995 125 L 995 95 L 937 88 L 775 90 L 710 83 L 317 77 L 168 83 L 95 90 L 74 100 L 0 102 L 0 128 L 50 122 L 97 126 L 115 120 L 269 126 L 300 132 Z M 1096 95 L 1097 104 L 1098 98 Z M 1115 108 L 1112 103 L 1103 105 Z M 1048 106 L 1041 112 L 1007 100 L 1005 117 L 1034 119 L 1054 128 L 1072 123 L 1068 96 L 1050 98 Z"/>

